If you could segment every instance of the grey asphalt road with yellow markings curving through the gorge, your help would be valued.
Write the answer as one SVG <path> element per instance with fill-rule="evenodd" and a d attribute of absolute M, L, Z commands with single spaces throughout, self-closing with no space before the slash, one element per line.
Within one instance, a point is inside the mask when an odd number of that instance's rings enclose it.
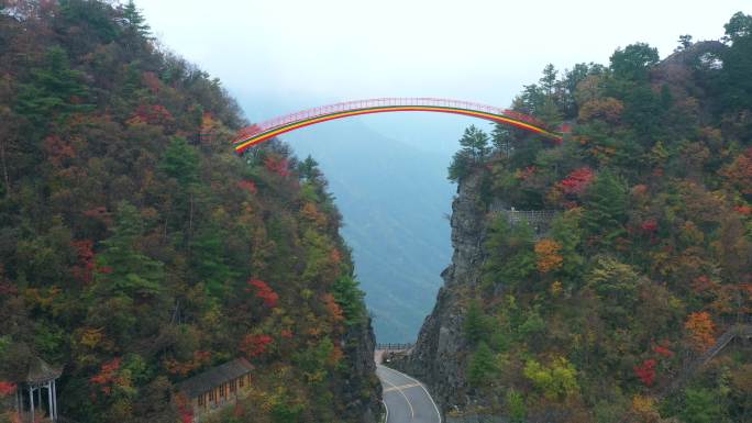
<path fill-rule="evenodd" d="M 439 409 L 425 387 L 418 380 L 377 365 L 381 380 L 387 423 L 442 423 Z"/>

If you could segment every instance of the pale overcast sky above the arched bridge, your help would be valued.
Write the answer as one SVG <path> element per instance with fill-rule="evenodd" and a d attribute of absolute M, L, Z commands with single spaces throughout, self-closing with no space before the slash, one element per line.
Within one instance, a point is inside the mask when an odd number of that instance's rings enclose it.
<path fill-rule="evenodd" d="M 648 42 L 719 38 L 750 0 L 136 0 L 170 49 L 219 77 L 252 120 L 373 97 L 507 107 L 543 66 L 607 64 Z M 368 122 L 372 122 L 373 119 Z"/>

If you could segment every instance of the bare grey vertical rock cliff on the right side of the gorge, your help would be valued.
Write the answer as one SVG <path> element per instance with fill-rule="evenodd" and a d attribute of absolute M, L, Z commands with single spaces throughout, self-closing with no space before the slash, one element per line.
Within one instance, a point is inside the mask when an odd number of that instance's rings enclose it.
<path fill-rule="evenodd" d="M 480 175 L 471 175 L 457 188 L 452 203 L 452 263 L 442 272 L 444 286 L 425 319 L 405 369 L 429 385 L 446 412 L 469 401 L 465 378 L 467 359 L 463 336 L 463 291 L 477 283 L 483 263 L 482 241 L 486 208 L 480 201 Z"/>

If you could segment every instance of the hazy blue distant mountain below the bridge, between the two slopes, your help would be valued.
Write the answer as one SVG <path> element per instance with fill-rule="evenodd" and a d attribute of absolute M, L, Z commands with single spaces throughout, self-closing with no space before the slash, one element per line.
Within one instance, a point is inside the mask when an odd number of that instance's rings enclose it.
<path fill-rule="evenodd" d="M 450 154 L 390 140 L 358 118 L 283 138 L 300 158 L 318 160 L 330 181 L 378 341 L 413 341 L 451 258 Z"/>

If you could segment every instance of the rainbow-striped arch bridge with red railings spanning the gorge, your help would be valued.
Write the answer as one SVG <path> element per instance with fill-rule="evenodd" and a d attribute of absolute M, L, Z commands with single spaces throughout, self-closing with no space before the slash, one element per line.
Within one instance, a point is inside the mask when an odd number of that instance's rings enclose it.
<path fill-rule="evenodd" d="M 305 126 L 334 119 L 386 112 L 440 112 L 462 114 L 508 124 L 554 141 L 562 140 L 562 131 L 553 131 L 535 118 L 509 109 L 499 109 L 493 105 L 449 99 L 381 98 L 322 105 L 274 118 L 242 129 L 237 133 L 233 144 L 235 152 L 242 153 L 264 141 Z"/>

